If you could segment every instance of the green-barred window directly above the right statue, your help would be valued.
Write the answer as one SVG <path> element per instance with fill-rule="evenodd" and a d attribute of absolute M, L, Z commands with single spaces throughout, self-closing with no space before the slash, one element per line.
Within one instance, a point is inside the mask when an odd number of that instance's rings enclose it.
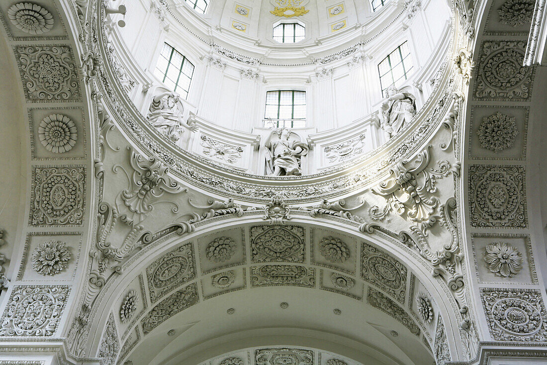
<path fill-rule="evenodd" d="M 408 43 L 405 42 L 388 54 L 378 65 L 382 95 L 391 84 L 399 87 L 408 78 L 410 70 L 412 70 L 412 59 Z"/>

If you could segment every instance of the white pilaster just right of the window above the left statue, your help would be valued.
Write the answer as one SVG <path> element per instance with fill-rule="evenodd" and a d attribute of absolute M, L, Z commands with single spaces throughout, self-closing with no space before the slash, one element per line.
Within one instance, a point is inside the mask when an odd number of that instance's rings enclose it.
<path fill-rule="evenodd" d="M 226 63 L 219 57 L 208 56 L 208 65 L 203 82 L 203 90 L 201 93 L 200 104 L 197 108 L 197 115 L 213 121 L 217 115 L 218 101 L 220 100 L 220 90 L 222 89 L 222 77 Z"/>

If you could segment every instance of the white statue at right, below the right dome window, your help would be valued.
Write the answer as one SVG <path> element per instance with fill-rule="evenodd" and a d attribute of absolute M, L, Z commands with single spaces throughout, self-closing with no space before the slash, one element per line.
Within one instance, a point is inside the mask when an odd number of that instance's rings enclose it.
<path fill-rule="evenodd" d="M 395 85 L 390 85 L 386 89 L 386 101 L 380 109 L 380 126 L 385 130 L 388 138 L 408 125 L 415 114 L 414 95 L 401 92 Z"/>

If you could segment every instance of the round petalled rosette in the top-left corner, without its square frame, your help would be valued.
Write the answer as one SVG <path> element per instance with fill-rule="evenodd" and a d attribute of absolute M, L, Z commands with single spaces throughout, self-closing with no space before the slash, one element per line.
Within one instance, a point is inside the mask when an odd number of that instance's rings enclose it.
<path fill-rule="evenodd" d="M 8 9 L 8 18 L 21 31 L 32 35 L 49 32 L 54 25 L 53 15 L 38 4 L 21 2 Z"/>

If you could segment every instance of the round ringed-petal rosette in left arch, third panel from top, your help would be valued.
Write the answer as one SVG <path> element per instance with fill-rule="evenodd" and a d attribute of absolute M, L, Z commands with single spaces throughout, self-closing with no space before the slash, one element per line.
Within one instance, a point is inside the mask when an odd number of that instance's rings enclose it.
<path fill-rule="evenodd" d="M 70 118 L 62 114 L 52 114 L 40 122 L 38 138 L 46 150 L 63 153 L 74 147 L 78 132 Z"/>

